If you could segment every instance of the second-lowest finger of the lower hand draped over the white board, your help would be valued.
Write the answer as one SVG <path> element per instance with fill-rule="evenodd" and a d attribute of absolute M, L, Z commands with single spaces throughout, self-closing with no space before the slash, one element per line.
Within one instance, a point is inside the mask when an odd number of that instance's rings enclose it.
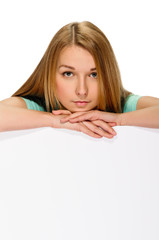
<path fill-rule="evenodd" d="M 95 124 L 93 124 L 92 122 L 87 122 L 84 121 L 83 122 L 84 125 L 86 125 L 92 132 L 102 136 L 102 137 L 106 137 L 106 138 L 113 138 L 114 134 L 111 134 L 109 132 L 106 132 L 105 130 L 103 130 L 102 128 L 96 126 Z"/>

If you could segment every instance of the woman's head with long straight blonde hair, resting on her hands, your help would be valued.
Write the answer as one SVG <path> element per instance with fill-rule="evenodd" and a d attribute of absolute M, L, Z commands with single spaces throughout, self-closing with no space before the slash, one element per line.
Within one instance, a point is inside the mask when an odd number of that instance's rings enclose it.
<path fill-rule="evenodd" d="M 121 112 L 128 94 L 108 39 L 84 21 L 67 24 L 55 34 L 35 71 L 13 96 L 43 98 L 47 111 Z"/>

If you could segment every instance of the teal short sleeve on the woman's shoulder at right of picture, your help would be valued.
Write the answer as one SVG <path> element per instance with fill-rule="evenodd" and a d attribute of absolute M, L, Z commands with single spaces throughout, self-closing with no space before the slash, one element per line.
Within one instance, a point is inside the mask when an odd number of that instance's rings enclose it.
<path fill-rule="evenodd" d="M 135 111 L 137 102 L 140 97 L 142 97 L 142 96 L 130 94 L 126 99 L 123 112 Z"/>

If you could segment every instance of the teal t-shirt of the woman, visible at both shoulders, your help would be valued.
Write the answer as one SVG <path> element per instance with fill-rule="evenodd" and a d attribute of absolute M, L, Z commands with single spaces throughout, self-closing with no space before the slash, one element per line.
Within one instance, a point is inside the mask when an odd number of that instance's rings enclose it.
<path fill-rule="evenodd" d="M 123 108 L 123 113 L 135 111 L 137 101 L 139 100 L 140 97 L 141 96 L 139 96 L 139 95 L 130 94 L 125 101 L 125 105 L 124 105 L 124 108 Z M 26 102 L 26 105 L 27 105 L 28 109 L 46 112 L 46 109 L 42 105 L 36 103 L 33 100 L 30 100 L 30 99 L 27 99 L 27 98 L 24 98 L 24 97 L 22 97 L 22 98 Z"/>

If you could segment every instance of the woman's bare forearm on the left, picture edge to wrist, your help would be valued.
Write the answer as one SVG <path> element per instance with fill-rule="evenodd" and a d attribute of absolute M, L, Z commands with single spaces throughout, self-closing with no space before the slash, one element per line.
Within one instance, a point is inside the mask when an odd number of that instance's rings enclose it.
<path fill-rule="evenodd" d="M 51 113 L 0 104 L 0 132 L 51 126 Z"/>

